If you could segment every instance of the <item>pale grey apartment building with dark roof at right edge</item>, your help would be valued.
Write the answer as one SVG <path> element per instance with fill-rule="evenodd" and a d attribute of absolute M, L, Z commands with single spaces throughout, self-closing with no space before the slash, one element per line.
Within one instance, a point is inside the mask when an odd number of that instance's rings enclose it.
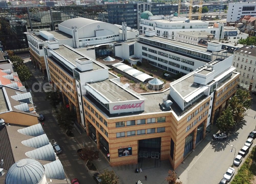
<path fill-rule="evenodd" d="M 239 86 L 249 91 L 256 90 L 256 47 L 243 46 L 234 51 L 233 66 L 239 75 Z"/>

